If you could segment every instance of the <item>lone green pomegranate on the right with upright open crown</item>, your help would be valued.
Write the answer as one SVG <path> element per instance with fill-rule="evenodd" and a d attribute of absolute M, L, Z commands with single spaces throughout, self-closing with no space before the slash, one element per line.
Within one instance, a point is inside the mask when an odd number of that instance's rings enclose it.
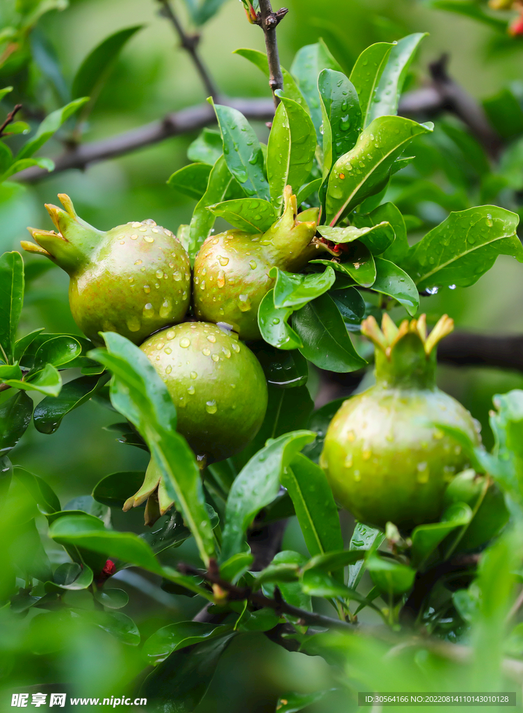
<path fill-rule="evenodd" d="M 479 443 L 475 421 L 435 384 L 437 342 L 453 329 L 442 317 L 427 336 L 425 315 L 399 329 L 368 317 L 362 334 L 376 347 L 376 385 L 345 401 L 325 437 L 320 463 L 334 496 L 354 517 L 408 531 L 437 520 L 448 483 L 467 456 L 436 424 Z"/>

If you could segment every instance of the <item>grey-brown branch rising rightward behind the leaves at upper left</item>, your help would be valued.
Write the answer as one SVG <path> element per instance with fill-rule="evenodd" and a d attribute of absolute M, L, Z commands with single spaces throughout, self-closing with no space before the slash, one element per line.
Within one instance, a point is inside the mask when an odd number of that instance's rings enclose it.
<path fill-rule="evenodd" d="M 225 106 L 238 109 L 248 119 L 267 121 L 274 116 L 274 106 L 269 99 L 222 99 L 221 101 Z M 153 121 L 125 133 L 78 145 L 55 159 L 55 169 L 51 173 L 38 168 L 38 166 L 33 166 L 16 173 L 13 178 L 26 183 L 36 183 L 38 180 L 56 175 L 56 173 L 71 168 L 83 169 L 92 163 L 117 158 L 171 136 L 197 131 L 207 124 L 215 122 L 216 115 L 212 106 L 207 102 L 198 104 L 167 114 L 160 121 Z"/>

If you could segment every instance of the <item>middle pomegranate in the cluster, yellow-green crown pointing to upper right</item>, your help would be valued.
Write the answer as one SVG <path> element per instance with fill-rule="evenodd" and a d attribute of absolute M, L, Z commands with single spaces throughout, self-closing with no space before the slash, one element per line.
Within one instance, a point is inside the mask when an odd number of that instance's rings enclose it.
<path fill-rule="evenodd" d="M 264 233 L 227 230 L 205 240 L 195 260 L 195 314 L 205 322 L 230 324 L 242 339 L 259 339 L 258 307 L 274 287 L 271 267 L 297 272 L 318 248 L 311 242 L 318 209 L 296 215 L 296 196 L 284 193 L 284 212 Z"/>

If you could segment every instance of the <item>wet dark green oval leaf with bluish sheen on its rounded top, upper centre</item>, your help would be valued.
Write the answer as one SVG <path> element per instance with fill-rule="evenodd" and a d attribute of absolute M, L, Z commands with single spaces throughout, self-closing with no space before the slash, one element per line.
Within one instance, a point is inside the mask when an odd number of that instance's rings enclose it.
<path fill-rule="evenodd" d="M 353 84 L 343 72 L 323 69 L 318 77 L 323 125 L 323 178 L 340 156 L 356 144 L 361 108 Z"/>

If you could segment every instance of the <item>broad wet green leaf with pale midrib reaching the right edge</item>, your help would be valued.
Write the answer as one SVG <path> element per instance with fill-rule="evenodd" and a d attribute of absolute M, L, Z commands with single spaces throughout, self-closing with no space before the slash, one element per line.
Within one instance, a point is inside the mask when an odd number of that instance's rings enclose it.
<path fill-rule="evenodd" d="M 519 216 L 497 205 L 451 213 L 410 251 L 405 270 L 418 289 L 469 287 L 490 270 L 498 255 L 523 262 L 516 235 Z"/>

